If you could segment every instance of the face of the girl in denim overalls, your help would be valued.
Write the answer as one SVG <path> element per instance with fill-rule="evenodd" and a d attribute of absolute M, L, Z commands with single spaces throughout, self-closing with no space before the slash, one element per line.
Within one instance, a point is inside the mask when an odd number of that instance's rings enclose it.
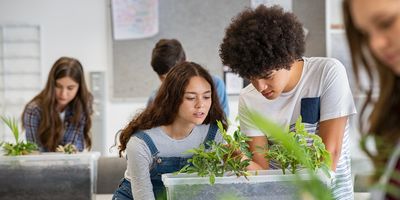
<path fill-rule="evenodd" d="M 211 85 L 200 76 L 194 76 L 183 94 L 176 120 L 199 125 L 208 115 L 211 107 Z"/>

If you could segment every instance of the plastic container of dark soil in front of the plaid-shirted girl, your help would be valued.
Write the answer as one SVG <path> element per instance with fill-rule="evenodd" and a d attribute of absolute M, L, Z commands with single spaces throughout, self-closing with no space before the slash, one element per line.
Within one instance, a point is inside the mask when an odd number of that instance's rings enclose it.
<path fill-rule="evenodd" d="M 95 199 L 99 152 L 0 156 L 0 199 Z"/>

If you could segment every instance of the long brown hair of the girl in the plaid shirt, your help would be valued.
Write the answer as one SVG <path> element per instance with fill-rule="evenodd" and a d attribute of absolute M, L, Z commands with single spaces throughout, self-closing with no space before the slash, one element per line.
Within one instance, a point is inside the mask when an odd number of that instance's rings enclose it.
<path fill-rule="evenodd" d="M 82 64 L 75 58 L 61 57 L 54 63 L 49 72 L 45 88 L 25 106 L 22 119 L 29 104 L 35 103 L 38 105 L 41 110 L 41 119 L 36 133 L 37 137 L 40 143 L 49 151 L 55 151 L 62 140 L 64 129 L 59 112 L 56 110 L 56 81 L 64 77 L 69 77 L 79 84 L 75 98 L 68 104 L 73 110 L 73 117 L 69 123 L 78 126 L 81 117 L 84 117 L 86 120 L 83 132 L 85 146 L 90 149 L 92 141 L 89 131 L 92 126 L 93 96 L 86 85 Z"/>

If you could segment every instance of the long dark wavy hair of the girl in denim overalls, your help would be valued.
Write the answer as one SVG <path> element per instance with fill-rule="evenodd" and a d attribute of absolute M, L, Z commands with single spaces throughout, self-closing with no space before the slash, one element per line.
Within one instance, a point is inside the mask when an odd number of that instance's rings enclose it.
<path fill-rule="evenodd" d="M 143 112 L 137 114 L 120 131 L 119 156 L 122 156 L 122 152 L 125 151 L 129 139 L 137 131 L 170 125 L 175 121 L 179 107 L 183 102 L 185 89 L 190 79 L 195 76 L 203 77 L 211 86 L 212 103 L 203 124 L 210 124 L 216 120 L 220 120 L 225 129 L 228 127 L 211 75 L 203 67 L 194 62 L 182 62 L 174 66 L 167 73 L 167 77 L 161 84 L 154 102 Z"/>

